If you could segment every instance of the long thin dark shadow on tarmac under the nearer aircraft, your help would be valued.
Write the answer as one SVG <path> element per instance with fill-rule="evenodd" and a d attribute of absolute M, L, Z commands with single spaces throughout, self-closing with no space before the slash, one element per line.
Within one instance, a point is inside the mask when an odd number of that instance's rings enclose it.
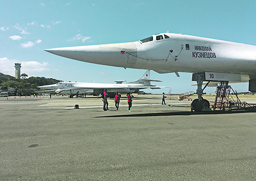
<path fill-rule="evenodd" d="M 158 113 L 144 113 L 144 114 L 125 114 L 125 115 L 109 115 L 109 116 L 96 116 L 95 118 L 118 118 L 118 117 L 146 117 L 146 116 L 190 116 L 190 115 L 218 115 L 218 114 L 235 114 L 235 113 L 248 113 L 256 112 L 256 110 L 228 110 L 228 111 L 209 111 L 209 112 L 158 112 Z"/>

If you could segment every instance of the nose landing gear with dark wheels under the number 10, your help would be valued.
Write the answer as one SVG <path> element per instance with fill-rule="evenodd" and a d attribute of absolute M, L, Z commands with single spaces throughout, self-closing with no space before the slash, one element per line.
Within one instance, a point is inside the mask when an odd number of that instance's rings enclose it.
<path fill-rule="evenodd" d="M 193 73 L 192 75 L 192 81 L 197 82 L 197 90 L 196 94 L 198 96 L 198 99 L 195 99 L 191 103 L 191 111 L 211 111 L 210 103 L 208 100 L 203 99 L 202 95 L 203 90 L 207 87 L 207 85 L 210 83 L 208 82 L 204 88 L 202 89 L 203 81 L 205 80 L 205 74 L 203 73 Z"/>

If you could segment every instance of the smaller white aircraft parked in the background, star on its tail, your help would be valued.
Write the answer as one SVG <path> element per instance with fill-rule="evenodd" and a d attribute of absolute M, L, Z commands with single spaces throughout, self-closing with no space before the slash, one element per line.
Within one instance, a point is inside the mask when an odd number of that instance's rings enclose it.
<path fill-rule="evenodd" d="M 150 79 L 150 70 L 146 72 L 139 78 L 139 80 L 124 83 L 125 81 L 115 81 L 116 84 L 102 84 L 102 83 L 89 83 L 89 82 L 58 82 L 57 84 L 52 85 L 43 85 L 38 86 L 42 89 L 54 90 L 56 93 L 93 93 L 93 95 L 99 95 L 104 92 L 105 89 L 108 89 L 108 96 L 114 97 L 115 92 L 120 93 L 138 93 L 140 89 L 160 89 L 165 87 L 157 87 L 151 85 L 151 81 L 162 82 L 160 80 L 151 80 Z"/>

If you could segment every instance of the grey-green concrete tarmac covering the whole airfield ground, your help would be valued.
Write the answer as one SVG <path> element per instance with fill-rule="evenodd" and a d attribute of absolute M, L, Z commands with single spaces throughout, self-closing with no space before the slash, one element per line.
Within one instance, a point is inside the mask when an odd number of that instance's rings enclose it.
<path fill-rule="evenodd" d="M 161 101 L 1 97 L 0 180 L 256 180 L 256 112 Z"/>

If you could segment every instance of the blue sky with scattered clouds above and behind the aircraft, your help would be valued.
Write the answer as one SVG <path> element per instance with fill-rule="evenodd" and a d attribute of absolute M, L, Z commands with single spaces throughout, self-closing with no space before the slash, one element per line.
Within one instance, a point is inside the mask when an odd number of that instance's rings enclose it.
<path fill-rule="evenodd" d="M 231 0 L 0 0 L 0 72 L 63 81 L 114 83 L 137 80 L 145 70 L 74 61 L 44 51 L 55 47 L 131 42 L 166 32 L 256 45 L 256 1 Z M 158 74 L 172 93 L 195 91 L 191 73 Z M 247 83 L 233 84 L 238 92 Z M 146 90 L 168 93 L 170 88 Z M 213 93 L 215 88 L 206 88 Z"/>

